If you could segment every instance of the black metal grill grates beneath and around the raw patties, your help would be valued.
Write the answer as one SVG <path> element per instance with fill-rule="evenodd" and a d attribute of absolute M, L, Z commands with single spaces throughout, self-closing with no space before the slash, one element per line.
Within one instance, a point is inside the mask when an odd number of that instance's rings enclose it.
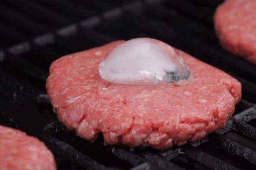
<path fill-rule="evenodd" d="M 220 47 L 212 15 L 221 2 L 3 0 L 0 123 L 43 140 L 59 169 L 255 169 L 256 66 Z M 243 97 L 227 126 L 183 147 L 133 152 L 125 146 L 104 146 L 102 137 L 91 144 L 62 126 L 44 87 L 51 62 L 135 37 L 167 42 L 237 78 Z"/>

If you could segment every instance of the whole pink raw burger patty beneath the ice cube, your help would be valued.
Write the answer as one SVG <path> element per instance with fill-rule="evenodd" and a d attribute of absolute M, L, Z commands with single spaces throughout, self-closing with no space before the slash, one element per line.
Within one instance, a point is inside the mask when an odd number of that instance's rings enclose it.
<path fill-rule="evenodd" d="M 57 116 L 78 136 L 105 144 L 171 148 L 225 126 L 241 98 L 235 78 L 185 52 L 194 82 L 154 86 L 117 85 L 100 78 L 98 66 L 124 41 L 61 57 L 50 67 L 46 89 Z"/>

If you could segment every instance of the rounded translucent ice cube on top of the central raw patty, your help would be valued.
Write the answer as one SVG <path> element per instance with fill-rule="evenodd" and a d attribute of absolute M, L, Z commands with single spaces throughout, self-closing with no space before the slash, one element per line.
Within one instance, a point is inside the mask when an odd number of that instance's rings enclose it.
<path fill-rule="evenodd" d="M 122 85 L 187 85 L 191 72 L 170 45 L 151 38 L 136 38 L 113 48 L 100 63 L 100 77 Z"/>

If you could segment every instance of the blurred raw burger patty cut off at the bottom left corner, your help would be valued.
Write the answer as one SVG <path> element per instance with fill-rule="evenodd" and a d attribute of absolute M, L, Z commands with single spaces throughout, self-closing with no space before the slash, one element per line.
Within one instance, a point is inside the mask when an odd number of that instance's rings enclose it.
<path fill-rule="evenodd" d="M 0 169 L 55 170 L 56 165 L 43 142 L 0 125 Z"/>

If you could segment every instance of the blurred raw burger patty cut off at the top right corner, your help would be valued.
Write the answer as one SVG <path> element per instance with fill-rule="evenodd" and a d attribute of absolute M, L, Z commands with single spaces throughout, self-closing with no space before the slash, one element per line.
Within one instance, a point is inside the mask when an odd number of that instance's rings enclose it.
<path fill-rule="evenodd" d="M 214 22 L 223 47 L 256 64 L 256 0 L 226 0 Z"/>

